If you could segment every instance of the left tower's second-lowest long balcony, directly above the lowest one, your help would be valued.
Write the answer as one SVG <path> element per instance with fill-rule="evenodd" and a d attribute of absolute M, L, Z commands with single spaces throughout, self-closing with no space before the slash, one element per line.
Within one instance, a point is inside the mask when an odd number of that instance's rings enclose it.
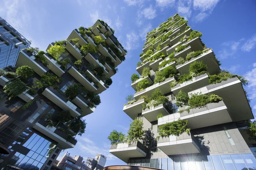
<path fill-rule="evenodd" d="M 52 87 L 46 88 L 42 94 L 64 111 L 70 111 L 70 115 L 72 117 L 81 116 L 81 109 L 74 105 L 72 102 L 70 102 L 68 99 L 66 99 L 62 94 L 60 94 Z"/>

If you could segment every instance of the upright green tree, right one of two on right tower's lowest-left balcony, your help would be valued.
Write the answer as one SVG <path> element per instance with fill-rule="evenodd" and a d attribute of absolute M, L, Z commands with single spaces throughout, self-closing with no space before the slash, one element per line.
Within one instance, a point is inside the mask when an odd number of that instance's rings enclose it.
<path fill-rule="evenodd" d="M 134 142 L 138 142 L 139 140 L 144 139 L 144 132 L 143 130 L 143 122 L 140 119 L 134 119 L 133 122 L 130 124 L 130 128 L 127 132 L 127 137 L 125 142 L 131 145 Z"/>

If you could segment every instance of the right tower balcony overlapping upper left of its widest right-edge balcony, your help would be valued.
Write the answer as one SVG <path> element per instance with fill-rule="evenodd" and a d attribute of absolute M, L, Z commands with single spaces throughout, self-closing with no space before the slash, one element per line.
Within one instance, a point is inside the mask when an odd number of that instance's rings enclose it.
<path fill-rule="evenodd" d="M 190 91 L 207 85 L 209 85 L 209 76 L 207 74 L 202 74 L 200 76 L 192 78 L 192 80 L 175 85 L 175 87 L 172 88 L 172 93 L 174 95 L 177 95 L 180 90 L 183 90 L 185 93 L 189 93 Z"/>

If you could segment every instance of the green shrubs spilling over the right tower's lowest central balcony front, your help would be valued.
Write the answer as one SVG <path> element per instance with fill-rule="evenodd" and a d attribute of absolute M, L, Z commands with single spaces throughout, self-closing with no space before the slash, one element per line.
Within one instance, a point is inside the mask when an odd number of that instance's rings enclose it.
<path fill-rule="evenodd" d="M 158 133 L 162 138 L 169 137 L 170 135 L 180 136 L 184 132 L 189 134 L 190 129 L 187 126 L 188 120 L 178 119 L 177 121 L 158 126 Z"/>

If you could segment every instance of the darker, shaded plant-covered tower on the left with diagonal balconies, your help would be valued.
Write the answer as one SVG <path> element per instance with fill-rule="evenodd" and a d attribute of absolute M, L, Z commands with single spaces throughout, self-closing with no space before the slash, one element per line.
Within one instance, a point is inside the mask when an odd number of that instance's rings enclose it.
<path fill-rule="evenodd" d="M 49 170 L 76 145 L 127 51 L 102 20 L 0 70 L 0 169 Z"/>

